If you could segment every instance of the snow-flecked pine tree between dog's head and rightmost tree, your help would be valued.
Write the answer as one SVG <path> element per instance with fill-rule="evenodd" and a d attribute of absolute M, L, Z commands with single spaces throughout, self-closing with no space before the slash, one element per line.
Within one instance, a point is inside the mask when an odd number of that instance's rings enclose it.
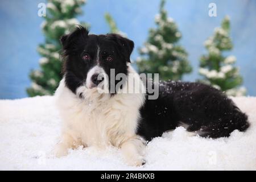
<path fill-rule="evenodd" d="M 147 42 L 139 49 L 137 65 L 140 73 L 159 73 L 162 80 L 181 80 L 184 73 L 192 71 L 187 52 L 177 42 L 181 38 L 174 20 L 160 3 L 160 13 L 155 16 L 156 28 L 151 28 Z"/>

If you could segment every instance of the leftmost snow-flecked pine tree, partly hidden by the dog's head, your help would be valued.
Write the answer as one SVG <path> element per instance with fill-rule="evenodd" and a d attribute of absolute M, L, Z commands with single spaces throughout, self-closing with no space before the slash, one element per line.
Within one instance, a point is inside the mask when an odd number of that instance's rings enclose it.
<path fill-rule="evenodd" d="M 86 26 L 75 18 L 82 13 L 80 7 L 84 3 L 85 0 L 48 0 L 46 16 L 41 25 L 46 38 L 38 47 L 38 52 L 42 56 L 39 60 L 40 69 L 30 73 L 32 84 L 27 88 L 28 96 L 51 95 L 55 92 L 61 80 L 59 39 L 77 24 Z"/>

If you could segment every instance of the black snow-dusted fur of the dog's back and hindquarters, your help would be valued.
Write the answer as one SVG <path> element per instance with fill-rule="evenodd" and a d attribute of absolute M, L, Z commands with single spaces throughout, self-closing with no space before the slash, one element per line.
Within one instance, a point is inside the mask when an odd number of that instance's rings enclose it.
<path fill-rule="evenodd" d="M 160 82 L 159 98 L 146 100 L 141 115 L 138 134 L 147 140 L 180 125 L 210 138 L 229 137 L 249 127 L 247 115 L 232 100 L 199 82 Z"/>

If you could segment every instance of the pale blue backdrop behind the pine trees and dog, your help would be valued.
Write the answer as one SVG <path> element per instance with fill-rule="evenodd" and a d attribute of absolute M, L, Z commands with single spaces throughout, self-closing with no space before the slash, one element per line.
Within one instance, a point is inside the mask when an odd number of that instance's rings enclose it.
<path fill-rule="evenodd" d="M 39 68 L 40 56 L 36 47 L 44 41 L 40 30 L 43 18 L 38 16 L 38 3 L 45 1 L 6 0 L 0 4 L 0 99 L 27 97 L 30 85 L 28 73 Z M 217 17 L 208 16 L 208 5 L 217 5 Z M 118 28 L 135 42 L 132 59 L 138 56 L 138 47 L 147 38 L 148 28 L 154 27 L 159 1 L 148 0 L 89 0 L 83 7 L 84 14 L 78 19 L 88 22 L 91 32 L 104 34 L 109 31 L 104 14 L 109 12 Z M 177 22 L 183 34 L 180 41 L 193 65 L 193 72 L 184 77 L 186 81 L 199 78 L 199 57 L 205 53 L 203 42 L 220 26 L 222 18 L 231 19 L 231 36 L 234 49 L 230 55 L 237 57 L 237 66 L 243 76 L 247 94 L 256 96 L 256 1 L 228 0 L 182 0 L 168 1 L 168 14 Z"/>

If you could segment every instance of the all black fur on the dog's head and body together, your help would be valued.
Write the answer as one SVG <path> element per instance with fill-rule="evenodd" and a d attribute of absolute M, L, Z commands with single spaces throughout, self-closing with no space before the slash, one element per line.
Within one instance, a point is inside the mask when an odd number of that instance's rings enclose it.
<path fill-rule="evenodd" d="M 97 64 L 97 46 L 101 47 L 100 65 L 108 75 L 110 68 L 115 69 L 115 74 L 127 74 L 127 62 L 130 62 L 134 48 L 133 41 L 122 36 L 88 35 L 83 27 L 64 35 L 61 43 L 65 57 L 65 84 L 75 94 L 86 80 L 89 69 Z M 89 53 L 91 60 L 83 60 L 84 53 Z M 106 61 L 106 55 L 112 55 L 113 61 Z M 228 137 L 233 130 L 245 131 L 249 127 L 246 114 L 224 93 L 197 82 L 160 82 L 159 98 L 146 99 L 140 111 L 137 134 L 147 140 L 180 125 L 211 138 Z"/>

